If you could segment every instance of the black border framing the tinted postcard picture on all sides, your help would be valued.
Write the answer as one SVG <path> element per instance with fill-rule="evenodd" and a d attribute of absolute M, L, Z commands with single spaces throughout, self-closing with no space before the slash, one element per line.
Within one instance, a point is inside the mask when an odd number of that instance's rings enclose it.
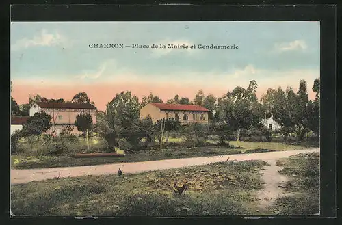
<path fill-rule="evenodd" d="M 45 1 L 44 1 L 45 2 Z M 50 1 L 51 2 L 51 1 Z M 91 12 L 91 13 L 90 13 Z M 9 13 L 9 12 L 8 12 Z M 6 16 L 7 15 L 7 16 Z M 12 21 L 321 21 L 321 216 L 335 217 L 336 209 L 336 156 L 337 155 L 337 61 L 336 61 L 336 6 L 334 5 L 258 5 L 239 6 L 239 5 L 12 5 Z M 10 34 L 9 14 L 2 14 L 1 20 L 8 21 L 8 27 L 1 34 Z M 1 38 L 3 43 L 1 63 L 5 64 L 1 68 L 8 68 L 7 74 L 10 74 L 9 36 Z M 3 103 L 9 103 L 9 81 L 10 76 L 1 76 L 1 97 Z M 2 143 L 3 159 L 9 159 L 10 143 L 8 142 L 10 134 L 10 106 L 4 105 L 3 113 L 7 120 L 3 120 L 2 127 L 7 129 L 1 135 L 4 139 Z M 326 149 L 326 150 L 325 150 Z M 10 168 L 9 160 L 1 163 L 3 171 Z M 6 190 L 10 193 L 10 177 L 2 173 L 6 180 Z M 9 174 L 9 173 L 8 173 Z M 3 213 L 9 215 L 8 203 L 9 196 L 4 203 Z M 247 217 L 248 218 L 248 217 Z M 271 220 L 272 224 L 282 224 L 286 220 Z M 50 218 L 12 218 L 15 222 L 40 222 L 44 224 L 55 219 L 58 222 L 62 220 L 68 222 L 85 222 L 84 220 L 75 220 L 73 218 L 62 219 L 62 217 Z M 200 217 L 187 219 L 192 222 L 201 222 Z M 208 220 L 209 218 L 205 218 Z M 251 222 L 243 218 L 217 218 L 215 222 Z M 101 218 L 101 222 L 110 222 L 107 218 Z M 209 221 L 210 220 L 210 221 Z M 205 224 L 211 222 L 211 217 Z M 265 222 L 267 217 L 263 217 L 255 222 Z M 293 219 L 292 219 L 293 220 Z M 90 220 L 91 221 L 91 220 Z M 295 221 L 302 222 L 302 218 L 296 218 Z M 98 220 L 96 220 L 98 222 Z M 155 217 L 120 217 L 118 222 L 158 222 Z M 166 222 L 165 220 L 163 222 Z M 176 222 L 176 218 L 168 219 L 168 222 Z M 311 220 L 313 222 L 313 220 Z"/>

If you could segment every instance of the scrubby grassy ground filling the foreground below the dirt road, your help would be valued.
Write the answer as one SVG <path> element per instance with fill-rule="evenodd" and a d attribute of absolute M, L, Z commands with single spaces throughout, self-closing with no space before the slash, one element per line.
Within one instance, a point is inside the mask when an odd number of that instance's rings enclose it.
<path fill-rule="evenodd" d="M 291 151 L 288 151 L 289 153 Z M 284 152 L 286 153 L 286 152 Z M 12 185 L 12 213 L 15 215 L 302 215 L 317 213 L 319 194 L 317 153 L 286 159 L 276 153 L 257 153 L 263 160 L 228 160 L 124 176 L 81 176 L 55 178 Z M 252 154 L 251 154 L 252 155 Z M 267 157 L 265 157 L 267 155 Z M 240 155 L 241 156 L 241 155 Z M 278 156 L 279 157 L 279 156 Z M 182 159 L 178 159 L 182 160 Z M 276 166 L 268 162 L 275 162 Z M 278 166 L 289 181 L 276 191 L 276 179 L 269 179 Z M 267 172 L 269 171 L 269 172 Z M 296 176 L 293 176 L 296 174 Z M 272 177 L 277 174 L 272 174 Z M 174 194 L 172 184 L 187 183 L 189 189 Z M 315 185 L 312 185 L 315 184 Z M 310 187 L 313 186 L 313 187 Z M 282 189 L 282 187 L 278 187 Z M 263 191 L 264 190 L 264 191 Z M 275 200 L 263 204 L 261 193 L 276 191 Z M 286 195 L 288 191 L 307 196 Z M 304 200 L 304 201 L 303 201 Z M 291 211 L 291 212 L 290 212 Z"/>

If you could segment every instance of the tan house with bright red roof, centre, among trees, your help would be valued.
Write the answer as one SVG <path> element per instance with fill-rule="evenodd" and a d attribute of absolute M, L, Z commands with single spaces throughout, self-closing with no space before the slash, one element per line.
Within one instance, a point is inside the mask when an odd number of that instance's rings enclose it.
<path fill-rule="evenodd" d="M 198 105 L 148 103 L 140 109 L 140 118 L 148 116 L 152 118 L 153 122 L 161 118 L 175 118 L 181 124 L 191 122 L 209 123 L 209 109 Z"/>

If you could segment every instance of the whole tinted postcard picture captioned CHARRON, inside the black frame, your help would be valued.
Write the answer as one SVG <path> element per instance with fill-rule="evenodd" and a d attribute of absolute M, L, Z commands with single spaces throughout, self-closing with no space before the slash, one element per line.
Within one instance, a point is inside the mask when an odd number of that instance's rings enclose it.
<path fill-rule="evenodd" d="M 12 22 L 12 215 L 319 215 L 319 26 Z"/>

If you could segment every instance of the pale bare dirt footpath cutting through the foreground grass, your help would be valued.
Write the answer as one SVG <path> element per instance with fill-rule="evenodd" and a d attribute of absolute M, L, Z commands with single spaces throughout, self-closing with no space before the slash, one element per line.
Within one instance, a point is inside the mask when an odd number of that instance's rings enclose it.
<path fill-rule="evenodd" d="M 257 191 L 257 199 L 259 200 L 259 211 L 266 212 L 267 207 L 276 202 L 276 200 L 285 195 L 282 185 L 289 181 L 287 176 L 278 173 L 282 169 L 276 166 L 276 160 L 267 161 L 269 166 L 261 168 L 261 178 L 265 182 L 263 189 Z"/>

